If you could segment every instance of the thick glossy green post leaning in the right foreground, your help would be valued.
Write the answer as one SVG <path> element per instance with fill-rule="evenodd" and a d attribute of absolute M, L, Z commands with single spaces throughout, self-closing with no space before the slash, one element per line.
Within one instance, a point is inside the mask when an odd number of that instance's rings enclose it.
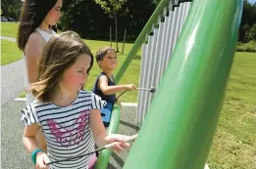
<path fill-rule="evenodd" d="M 125 169 L 203 169 L 233 60 L 242 0 L 194 0 Z"/>

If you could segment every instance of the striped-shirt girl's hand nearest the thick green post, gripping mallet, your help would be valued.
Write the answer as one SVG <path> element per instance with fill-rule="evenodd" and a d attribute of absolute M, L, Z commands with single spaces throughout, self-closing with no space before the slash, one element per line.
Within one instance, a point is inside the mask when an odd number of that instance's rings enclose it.
<path fill-rule="evenodd" d="M 126 148 L 129 148 L 130 145 L 125 142 L 125 139 L 128 138 L 128 136 L 125 135 L 119 135 L 119 134 L 113 134 L 106 137 L 107 144 L 112 144 L 116 142 L 115 146 L 111 148 L 111 150 L 122 153 L 125 151 Z"/>

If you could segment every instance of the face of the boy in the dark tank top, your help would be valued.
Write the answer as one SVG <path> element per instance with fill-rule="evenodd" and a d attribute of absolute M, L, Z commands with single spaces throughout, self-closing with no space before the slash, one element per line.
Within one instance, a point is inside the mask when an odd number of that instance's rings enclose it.
<path fill-rule="evenodd" d="M 109 51 L 99 64 L 102 69 L 114 70 L 118 65 L 117 54 L 114 51 Z"/>

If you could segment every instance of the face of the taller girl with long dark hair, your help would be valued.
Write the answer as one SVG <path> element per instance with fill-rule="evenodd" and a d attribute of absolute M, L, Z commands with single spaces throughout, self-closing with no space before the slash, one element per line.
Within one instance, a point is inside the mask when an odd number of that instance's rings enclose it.
<path fill-rule="evenodd" d="M 61 18 L 62 0 L 58 0 L 55 6 L 48 12 L 45 21 L 49 25 L 55 25 Z"/>

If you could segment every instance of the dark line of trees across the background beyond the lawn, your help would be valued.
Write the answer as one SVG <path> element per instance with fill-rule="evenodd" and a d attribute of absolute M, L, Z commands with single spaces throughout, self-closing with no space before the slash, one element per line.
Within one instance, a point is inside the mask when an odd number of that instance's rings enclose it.
<path fill-rule="evenodd" d="M 135 40 L 160 0 L 63 0 L 61 30 L 77 31 L 83 38 L 107 40 L 112 27 L 119 40 L 127 29 L 128 40 Z M 2 0 L 1 16 L 19 21 L 23 1 Z M 256 3 L 244 0 L 239 41 L 256 41 Z"/>

